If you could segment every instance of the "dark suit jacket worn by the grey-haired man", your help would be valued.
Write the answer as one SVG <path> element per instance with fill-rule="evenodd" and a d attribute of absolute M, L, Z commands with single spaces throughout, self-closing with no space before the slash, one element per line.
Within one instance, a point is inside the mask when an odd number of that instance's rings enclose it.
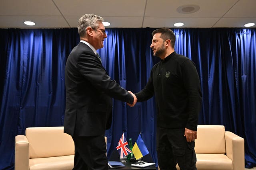
<path fill-rule="evenodd" d="M 69 135 L 104 135 L 112 123 L 112 98 L 133 103 L 133 96 L 111 80 L 92 49 L 80 42 L 65 68 L 66 110 L 64 132 Z"/>

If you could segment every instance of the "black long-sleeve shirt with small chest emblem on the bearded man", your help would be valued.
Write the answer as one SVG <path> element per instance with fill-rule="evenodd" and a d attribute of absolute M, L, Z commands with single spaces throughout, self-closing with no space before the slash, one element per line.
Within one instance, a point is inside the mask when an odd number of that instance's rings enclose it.
<path fill-rule="evenodd" d="M 195 64 L 175 51 L 153 66 L 146 87 L 136 93 L 138 102 L 155 94 L 157 127 L 197 130 L 202 104 Z"/>

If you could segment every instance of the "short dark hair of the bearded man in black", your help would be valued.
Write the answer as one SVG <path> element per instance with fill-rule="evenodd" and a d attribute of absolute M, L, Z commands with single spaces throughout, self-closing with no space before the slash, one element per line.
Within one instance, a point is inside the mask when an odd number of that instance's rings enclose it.
<path fill-rule="evenodd" d="M 172 48 L 174 48 L 174 45 L 175 45 L 175 34 L 173 33 L 173 31 L 169 28 L 159 28 L 159 29 L 156 29 L 152 32 L 152 36 L 155 35 L 155 33 L 161 33 L 161 36 L 160 38 L 162 38 L 164 41 L 166 39 L 170 39 L 171 40 L 171 45 L 172 45 Z"/>

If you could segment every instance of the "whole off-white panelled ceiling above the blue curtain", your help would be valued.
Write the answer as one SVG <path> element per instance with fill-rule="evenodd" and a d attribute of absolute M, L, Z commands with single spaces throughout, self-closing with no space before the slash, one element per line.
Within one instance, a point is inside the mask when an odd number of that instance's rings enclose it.
<path fill-rule="evenodd" d="M 177 12 L 184 5 L 200 9 Z M 108 27 L 244 27 L 256 23 L 256 0 L 0 0 L 0 28 L 77 27 L 83 14 L 102 16 Z"/>

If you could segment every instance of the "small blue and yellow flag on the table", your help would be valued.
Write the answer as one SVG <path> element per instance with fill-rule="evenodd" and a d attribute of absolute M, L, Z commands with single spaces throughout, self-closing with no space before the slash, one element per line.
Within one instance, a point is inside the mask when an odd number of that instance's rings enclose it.
<path fill-rule="evenodd" d="M 132 152 L 136 159 L 139 159 L 139 158 L 145 156 L 146 154 L 149 154 L 148 149 L 140 135 L 139 135 L 136 143 L 132 147 Z"/>

